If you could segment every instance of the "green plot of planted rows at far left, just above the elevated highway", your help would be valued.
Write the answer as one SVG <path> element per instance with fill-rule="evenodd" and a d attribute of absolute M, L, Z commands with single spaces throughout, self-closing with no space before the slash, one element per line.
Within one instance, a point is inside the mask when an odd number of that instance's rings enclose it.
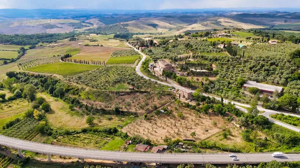
<path fill-rule="evenodd" d="M 12 127 L 2 131 L 2 135 L 22 140 L 32 140 L 38 133 L 34 131 L 38 121 L 34 118 L 25 118 Z"/>

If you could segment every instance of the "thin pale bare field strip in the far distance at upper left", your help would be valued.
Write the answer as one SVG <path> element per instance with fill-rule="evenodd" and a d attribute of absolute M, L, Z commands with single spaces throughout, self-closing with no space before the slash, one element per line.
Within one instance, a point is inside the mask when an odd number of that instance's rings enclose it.
<path fill-rule="evenodd" d="M 26 20 L 26 21 L 17 21 L 14 22 L 10 27 L 17 25 L 41 25 L 45 23 L 70 23 L 70 22 L 79 22 L 78 20 L 73 19 L 40 19 L 40 20 Z"/>

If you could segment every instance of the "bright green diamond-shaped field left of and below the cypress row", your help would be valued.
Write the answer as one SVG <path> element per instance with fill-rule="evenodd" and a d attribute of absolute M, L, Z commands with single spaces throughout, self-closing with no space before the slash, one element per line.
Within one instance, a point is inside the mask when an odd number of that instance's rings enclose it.
<path fill-rule="evenodd" d="M 43 64 L 25 69 L 26 71 L 59 74 L 62 76 L 75 75 L 84 71 L 99 68 L 97 65 L 83 65 L 67 62 Z"/>

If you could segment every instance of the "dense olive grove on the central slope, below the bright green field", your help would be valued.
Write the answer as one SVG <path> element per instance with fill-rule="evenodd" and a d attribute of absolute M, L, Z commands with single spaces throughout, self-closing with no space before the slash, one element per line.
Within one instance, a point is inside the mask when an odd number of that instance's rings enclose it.
<path fill-rule="evenodd" d="M 98 66 L 99 67 L 99 66 Z M 100 66 L 97 69 L 81 74 L 68 76 L 70 82 L 84 84 L 95 89 L 117 90 L 121 84 L 135 86 L 137 89 L 165 89 L 162 85 L 138 76 L 133 67 L 128 66 Z M 122 89 L 126 89 L 122 87 Z"/>

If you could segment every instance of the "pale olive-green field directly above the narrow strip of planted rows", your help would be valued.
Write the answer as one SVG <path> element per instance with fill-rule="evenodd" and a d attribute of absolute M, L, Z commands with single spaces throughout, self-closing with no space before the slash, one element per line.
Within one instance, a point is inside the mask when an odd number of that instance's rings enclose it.
<path fill-rule="evenodd" d="M 55 47 L 45 47 L 45 48 L 36 48 L 30 49 L 24 55 L 25 58 L 42 58 L 42 57 L 51 57 L 53 55 L 64 55 L 71 54 L 75 55 L 80 52 L 80 48 L 73 48 L 70 46 L 55 46 Z"/>

